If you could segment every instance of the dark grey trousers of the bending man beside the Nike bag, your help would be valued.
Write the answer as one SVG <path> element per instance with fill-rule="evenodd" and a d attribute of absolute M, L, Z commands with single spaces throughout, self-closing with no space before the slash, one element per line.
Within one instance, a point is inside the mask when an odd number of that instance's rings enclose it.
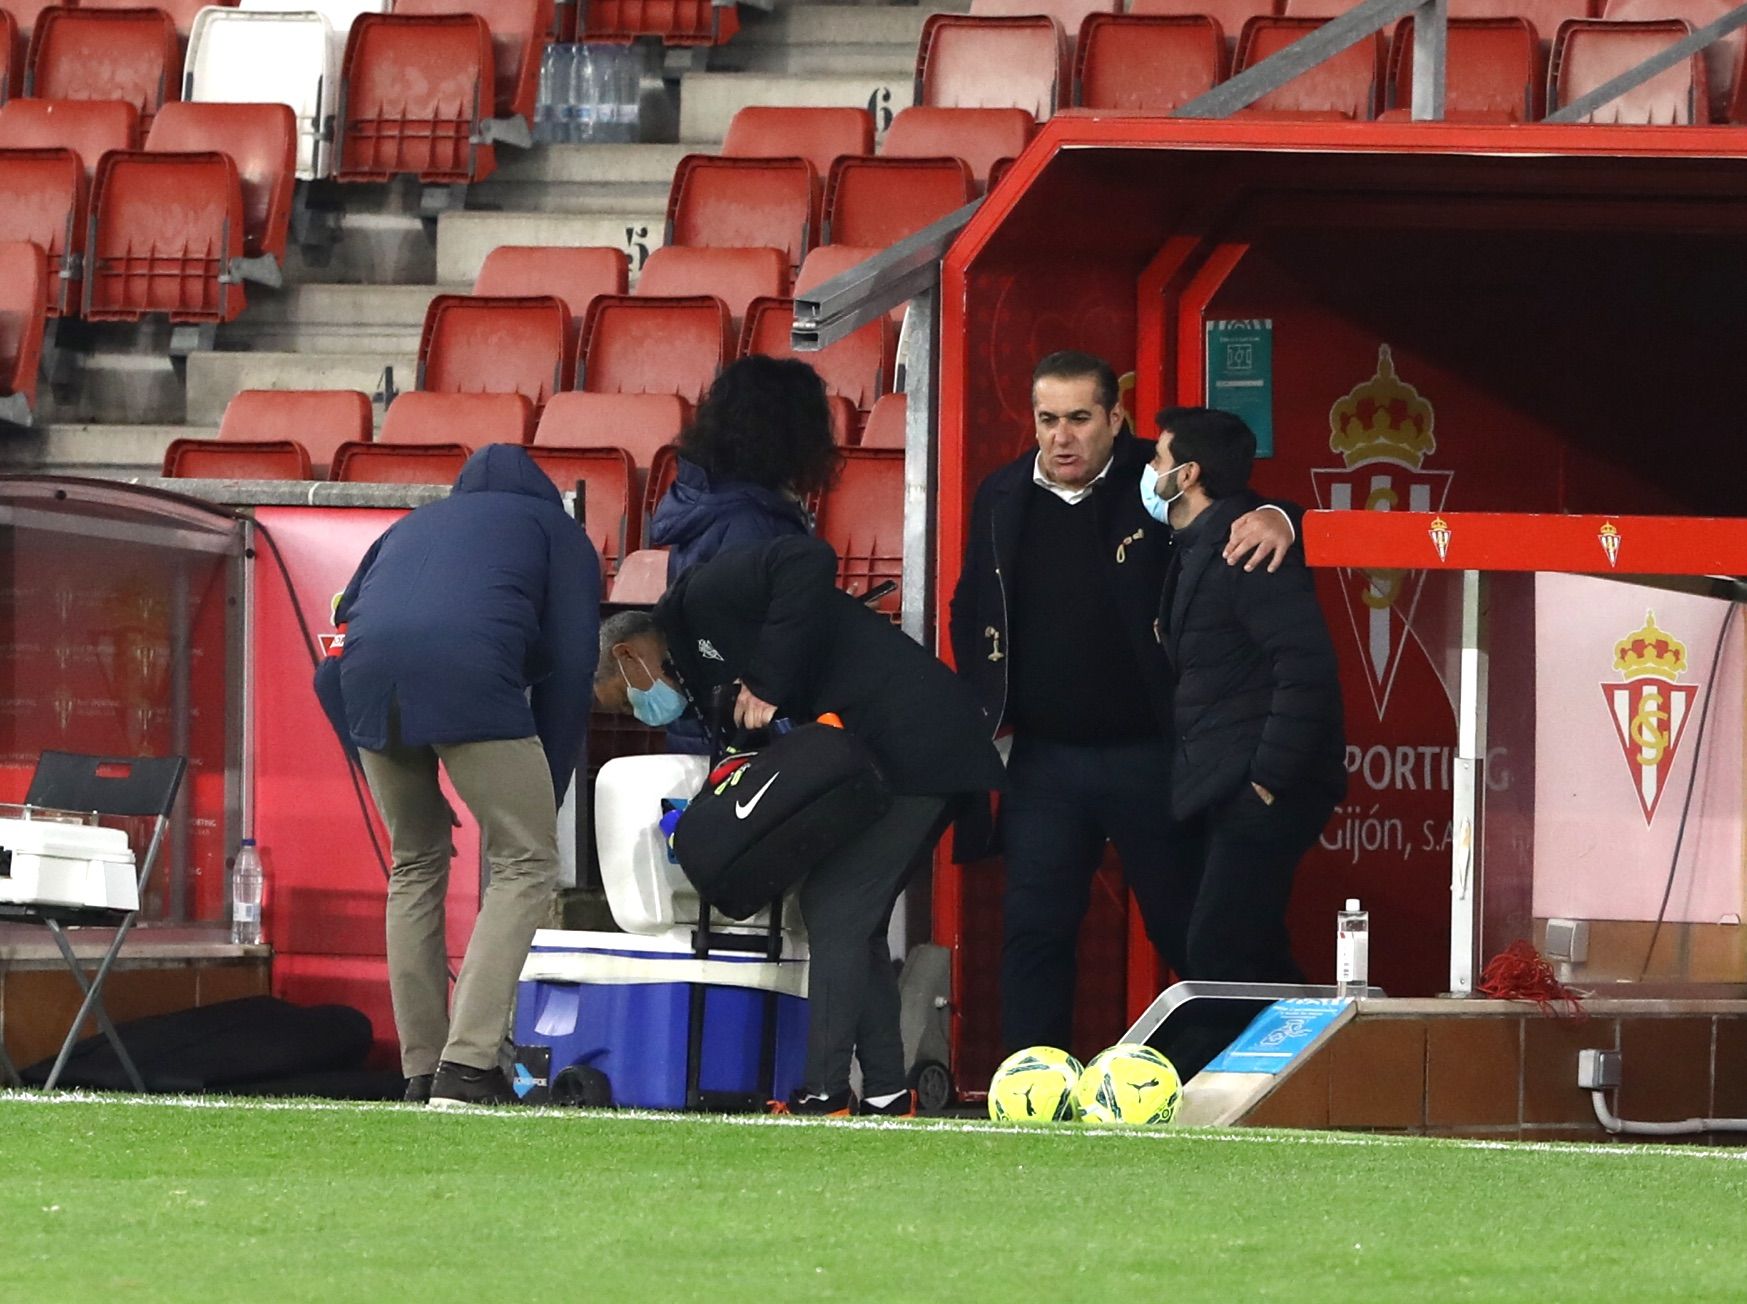
<path fill-rule="evenodd" d="M 903 1091 L 898 975 L 886 928 L 903 884 L 945 829 L 945 797 L 893 797 L 877 823 L 802 879 L 809 954 L 804 1091 L 847 1091 L 851 1056 L 861 1061 L 863 1096 Z"/>

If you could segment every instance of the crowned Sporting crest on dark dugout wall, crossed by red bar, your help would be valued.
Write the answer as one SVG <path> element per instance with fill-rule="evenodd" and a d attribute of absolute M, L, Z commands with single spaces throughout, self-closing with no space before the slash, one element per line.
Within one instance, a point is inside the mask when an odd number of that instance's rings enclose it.
<path fill-rule="evenodd" d="M 1345 465 L 1310 472 L 1317 507 L 1441 512 L 1454 472 L 1424 468 L 1426 458 L 1438 447 L 1433 425 L 1431 402 L 1396 376 L 1389 344 L 1380 344 L 1377 374 L 1328 413 L 1328 444 Z M 1389 706 L 1389 690 L 1401 669 L 1424 586 L 1422 570 L 1340 572 L 1340 596 L 1378 718 Z"/>

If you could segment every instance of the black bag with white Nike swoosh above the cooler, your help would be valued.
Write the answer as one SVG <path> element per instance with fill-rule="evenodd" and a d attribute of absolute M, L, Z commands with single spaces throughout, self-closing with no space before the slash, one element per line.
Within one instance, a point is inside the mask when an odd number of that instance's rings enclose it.
<path fill-rule="evenodd" d="M 716 766 L 673 832 L 697 895 L 746 919 L 891 809 L 874 757 L 846 729 L 797 725 Z"/>

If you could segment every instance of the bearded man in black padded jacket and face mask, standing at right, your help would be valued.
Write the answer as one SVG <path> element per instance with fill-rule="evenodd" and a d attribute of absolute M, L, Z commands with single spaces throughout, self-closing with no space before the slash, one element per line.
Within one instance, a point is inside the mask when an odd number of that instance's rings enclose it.
<path fill-rule="evenodd" d="M 1172 874 L 1174 963 L 1184 979 L 1302 982 L 1286 904 L 1347 788 L 1335 645 L 1300 556 L 1275 572 L 1216 565 L 1232 523 L 1260 503 L 1249 427 L 1205 407 L 1167 409 L 1158 427 L 1143 498 L 1172 526 L 1158 636 L 1176 683 L 1170 815 L 1186 848 Z"/>

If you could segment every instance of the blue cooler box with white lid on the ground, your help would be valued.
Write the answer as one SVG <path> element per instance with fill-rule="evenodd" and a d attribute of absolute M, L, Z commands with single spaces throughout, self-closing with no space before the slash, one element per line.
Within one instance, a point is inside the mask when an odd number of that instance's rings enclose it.
<path fill-rule="evenodd" d="M 807 961 L 692 954 L 687 935 L 636 937 L 542 930 L 522 967 L 515 1042 L 552 1047 L 552 1077 L 571 1065 L 606 1075 L 613 1103 L 685 1108 L 692 982 L 702 979 L 704 1091 L 758 1089 L 765 993 L 779 991 L 776 1098 L 800 1086 L 807 1047 Z M 744 982 L 744 986 L 741 986 Z"/>

